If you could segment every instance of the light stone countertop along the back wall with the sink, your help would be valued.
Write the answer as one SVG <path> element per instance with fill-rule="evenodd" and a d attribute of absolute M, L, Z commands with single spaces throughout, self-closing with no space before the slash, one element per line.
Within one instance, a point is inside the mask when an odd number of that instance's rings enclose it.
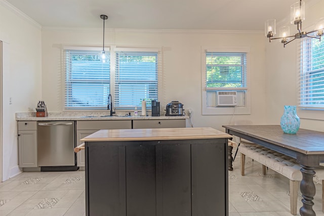
<path fill-rule="evenodd" d="M 126 116 L 127 113 L 117 113 L 108 116 L 109 112 L 60 112 L 49 113 L 47 117 L 36 117 L 35 112 L 16 113 L 17 121 L 86 121 L 86 120 L 148 120 L 148 119 L 187 119 L 189 116 Z"/>

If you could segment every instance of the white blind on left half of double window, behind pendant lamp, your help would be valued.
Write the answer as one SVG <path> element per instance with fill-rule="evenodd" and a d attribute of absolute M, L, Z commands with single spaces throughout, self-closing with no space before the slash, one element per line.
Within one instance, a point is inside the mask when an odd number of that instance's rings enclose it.
<path fill-rule="evenodd" d="M 65 50 L 64 53 L 65 109 L 107 108 L 109 58 L 107 63 L 101 63 L 98 51 Z"/>

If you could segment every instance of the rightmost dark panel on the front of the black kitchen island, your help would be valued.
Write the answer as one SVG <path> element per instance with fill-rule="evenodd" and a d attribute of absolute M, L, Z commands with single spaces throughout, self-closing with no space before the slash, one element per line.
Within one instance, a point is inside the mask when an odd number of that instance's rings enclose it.
<path fill-rule="evenodd" d="M 227 215 L 227 161 L 225 139 L 191 145 L 192 216 Z"/>

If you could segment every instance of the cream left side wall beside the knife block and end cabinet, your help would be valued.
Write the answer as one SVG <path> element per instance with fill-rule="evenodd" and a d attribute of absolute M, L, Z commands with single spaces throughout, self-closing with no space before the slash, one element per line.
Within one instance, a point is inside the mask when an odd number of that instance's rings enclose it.
<path fill-rule="evenodd" d="M 1 166 L 5 181 L 20 172 L 15 113 L 31 111 L 42 97 L 42 56 L 40 26 L 2 0 L 0 29 L 0 40 L 4 41 Z"/>

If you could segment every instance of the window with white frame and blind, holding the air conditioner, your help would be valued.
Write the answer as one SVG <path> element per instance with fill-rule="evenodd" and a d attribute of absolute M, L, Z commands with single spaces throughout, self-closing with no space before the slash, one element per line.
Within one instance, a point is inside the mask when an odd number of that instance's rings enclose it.
<path fill-rule="evenodd" d="M 203 50 L 203 115 L 233 114 L 239 108 L 245 108 L 245 111 L 240 109 L 235 114 L 250 113 L 247 103 L 248 51 L 247 48 Z M 217 93 L 221 91 L 236 92 L 237 106 L 219 106 Z"/>

